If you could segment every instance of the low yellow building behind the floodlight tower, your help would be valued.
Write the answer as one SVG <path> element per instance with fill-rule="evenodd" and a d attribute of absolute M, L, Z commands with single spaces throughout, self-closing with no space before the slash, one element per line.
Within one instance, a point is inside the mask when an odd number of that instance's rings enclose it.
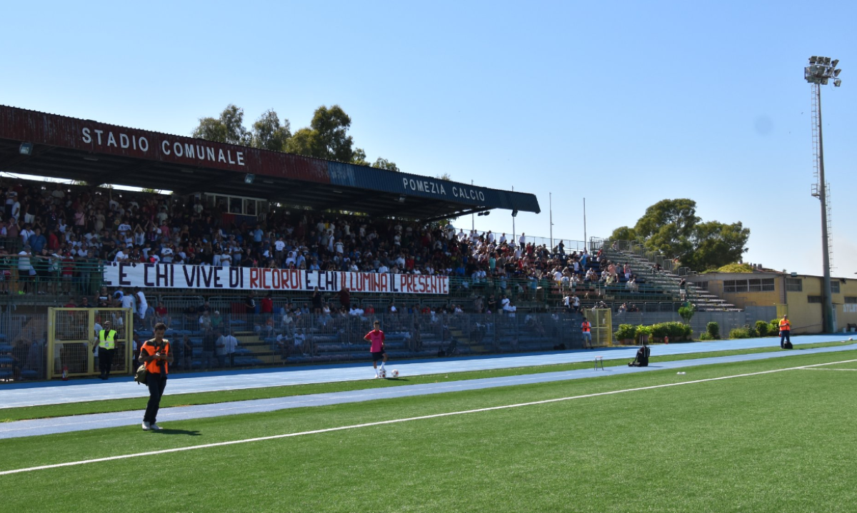
<path fill-rule="evenodd" d="M 748 313 L 758 313 L 756 320 L 774 319 L 788 311 L 794 334 L 823 330 L 821 290 L 824 277 L 762 270 L 709 272 L 686 279 Z M 849 328 L 857 331 L 857 279 L 831 277 L 830 291 L 836 331 Z"/>

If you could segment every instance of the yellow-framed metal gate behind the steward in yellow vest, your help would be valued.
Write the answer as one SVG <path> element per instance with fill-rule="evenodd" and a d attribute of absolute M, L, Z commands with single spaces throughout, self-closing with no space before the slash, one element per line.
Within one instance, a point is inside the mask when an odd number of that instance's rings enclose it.
<path fill-rule="evenodd" d="M 96 324 L 111 321 L 117 331 L 112 373 L 129 374 L 134 339 L 134 313 L 130 308 L 48 308 L 48 379 L 63 375 L 98 374 Z"/>

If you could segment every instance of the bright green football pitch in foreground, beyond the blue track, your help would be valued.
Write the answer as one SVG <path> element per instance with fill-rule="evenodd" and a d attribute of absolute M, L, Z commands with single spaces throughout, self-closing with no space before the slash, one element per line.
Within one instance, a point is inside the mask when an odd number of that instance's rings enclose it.
<path fill-rule="evenodd" d="M 2 440 L 3 510 L 855 510 L 857 351 L 683 371 Z"/>

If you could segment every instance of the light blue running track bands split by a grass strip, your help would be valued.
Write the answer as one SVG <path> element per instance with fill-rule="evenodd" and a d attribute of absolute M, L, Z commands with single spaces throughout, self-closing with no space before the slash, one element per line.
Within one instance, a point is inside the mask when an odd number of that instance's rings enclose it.
<path fill-rule="evenodd" d="M 809 340 L 813 338 L 813 340 Z M 762 340 L 764 341 L 761 345 L 752 345 L 753 340 Z M 682 353 L 698 353 L 704 352 L 705 350 L 709 351 L 718 351 L 723 349 L 741 349 L 741 348 L 752 348 L 752 347 L 764 347 L 770 345 L 772 339 L 753 339 L 753 340 L 744 340 L 744 341 L 730 341 L 730 342 L 718 342 L 718 343 L 685 343 L 685 344 L 674 344 L 669 346 L 656 346 L 656 349 L 653 350 L 653 355 L 680 355 Z M 821 342 L 821 341 L 831 341 L 837 340 L 833 337 L 800 337 L 800 343 L 811 343 L 811 342 Z M 739 343 L 742 343 L 739 345 Z M 731 345 L 733 347 L 726 347 Z M 711 349 L 704 349 L 713 346 Z M 594 369 L 582 369 L 577 371 L 563 371 L 556 373 L 536 373 L 529 374 L 524 376 L 509 376 L 503 378 L 488 378 L 488 379 L 468 379 L 464 381 L 452 381 L 446 383 L 432 383 L 425 385 L 405 385 L 405 386 L 396 386 L 389 388 L 375 388 L 368 389 L 362 391 L 343 391 L 343 392 L 330 392 L 324 394 L 314 394 L 307 396 L 295 396 L 295 397 L 277 397 L 273 399 L 257 399 L 251 401 L 237 401 L 233 403 L 217 403 L 217 404 L 206 404 L 206 405 L 198 405 L 198 406 L 184 406 L 184 407 L 176 407 L 176 408 L 168 408 L 162 409 L 159 412 L 159 423 L 169 422 L 169 421 L 185 421 L 190 419 L 200 419 L 206 417 L 217 417 L 222 415 L 238 415 L 238 414 L 250 414 L 250 413 L 260 413 L 260 412 L 269 412 L 275 411 L 279 409 L 291 409 L 291 408 L 303 408 L 309 406 L 322 406 L 322 405 L 331 405 L 331 404 L 342 404 L 342 403 L 359 403 L 363 401 L 371 401 L 376 399 L 387 399 L 393 397 L 413 397 L 413 396 L 421 396 L 421 395 L 430 395 L 430 394 L 439 394 L 450 391 L 469 391 L 469 390 L 480 390 L 486 388 L 494 388 L 500 386 L 512 386 L 512 385 L 525 385 L 532 383 L 545 383 L 551 381 L 563 381 L 568 379 L 582 379 L 582 378 L 592 378 L 596 376 L 608 376 L 608 375 L 619 375 L 626 373 L 640 373 L 640 372 L 648 372 L 653 370 L 663 370 L 663 369 L 678 369 L 683 367 L 695 367 L 700 365 L 711 365 L 716 363 L 727 363 L 733 361 L 758 361 L 765 360 L 769 358 L 780 358 L 780 357 L 788 357 L 790 355 L 806 355 L 812 353 L 830 353 L 830 352 L 838 352 L 838 351 L 846 351 L 846 350 L 854 350 L 857 349 L 857 344 L 849 343 L 842 344 L 841 346 L 829 347 L 829 348 L 818 348 L 818 349 L 803 349 L 798 351 L 783 351 L 783 352 L 772 352 L 772 353 L 758 353 L 752 355 L 732 355 L 732 356 L 719 356 L 713 358 L 703 358 L 703 359 L 695 359 L 695 360 L 684 360 L 684 361 L 666 361 L 666 362 L 657 362 L 656 360 L 652 362 L 650 367 L 605 367 L 604 370 L 594 370 Z M 612 358 L 625 358 L 627 357 L 629 360 L 633 357 L 635 349 L 606 349 L 601 351 L 578 351 L 575 353 L 557 353 L 550 355 L 518 355 L 518 356 L 510 356 L 510 357 L 494 357 L 494 358 L 478 358 L 478 359 L 459 359 L 459 360 L 446 360 L 446 361 L 431 361 L 431 362 L 409 362 L 407 364 L 400 365 L 398 368 L 401 369 L 400 372 L 404 375 L 415 375 L 416 372 L 413 372 L 415 369 L 423 369 L 423 367 L 428 368 L 425 373 L 444 373 L 444 372 L 460 372 L 465 370 L 478 370 L 478 369 L 488 369 L 488 368 L 507 368 L 507 367 L 526 367 L 533 365 L 549 365 L 554 363 L 564 363 L 568 361 L 592 361 L 594 355 L 603 355 L 605 359 Z M 544 359 L 548 358 L 548 361 Z M 502 364 L 498 364 L 498 361 L 502 361 Z M 523 363 L 523 362 L 529 363 Z M 414 367 L 411 367 L 414 366 Z M 392 368 L 393 366 L 391 366 Z M 333 379 L 334 376 L 331 375 L 332 371 L 335 370 L 337 373 L 340 371 L 346 374 L 351 375 L 352 373 L 357 376 L 354 378 L 345 378 L 345 379 Z M 406 372 L 406 374 L 405 374 Z M 291 373 L 309 373 L 309 376 L 303 376 L 301 379 L 288 379 L 285 382 L 279 381 L 282 379 L 282 374 L 291 374 Z M 262 382 L 266 382 L 266 385 L 255 385 L 255 386 L 274 386 L 274 385 L 286 385 L 286 384 L 297 384 L 297 383 L 317 383 L 317 382 L 326 382 L 326 381 L 334 381 L 334 380 L 347 380 L 347 379 L 366 379 L 367 377 L 374 376 L 371 368 L 367 367 L 365 364 L 360 367 L 348 366 L 348 367 L 315 367 L 312 369 L 301 369 L 301 370 L 292 370 L 292 371 L 278 371 L 274 373 L 251 373 L 251 375 L 264 374 L 267 375 L 267 378 L 270 378 L 273 375 L 277 375 L 278 381 L 270 382 L 267 379 L 261 379 Z M 315 380 L 309 380 L 313 377 L 314 374 L 317 374 Z M 225 374 L 219 376 L 219 380 L 223 379 L 239 379 L 245 374 Z M 170 387 L 174 387 L 175 393 L 187 393 L 188 390 L 184 388 L 185 383 L 193 384 L 195 380 L 200 379 L 209 379 L 205 376 L 188 376 L 183 375 L 182 378 L 179 379 L 171 379 L 169 385 L 167 385 L 167 389 Z M 240 381 L 238 381 L 240 382 Z M 105 385 L 123 385 L 118 381 L 116 383 L 108 382 L 104 383 L 102 381 L 98 381 L 96 383 L 87 384 L 87 385 L 76 385 L 77 387 L 104 387 Z M 134 396 L 131 397 L 141 397 L 141 405 L 143 405 L 144 398 L 146 397 L 146 390 L 139 385 L 135 385 L 133 382 L 126 384 L 130 386 L 135 386 L 139 392 L 135 393 Z M 238 388 L 253 388 L 254 385 L 244 384 L 245 386 L 239 386 Z M 44 390 L 47 389 L 56 389 L 56 388 L 69 388 L 69 386 L 53 386 L 53 387 L 35 387 L 30 390 Z M 180 390 L 175 390 L 180 389 Z M 207 388 L 197 390 L 195 388 L 194 391 L 212 391 L 212 390 L 227 390 L 228 387 L 220 386 L 217 388 Z M 93 388 L 90 388 L 90 394 L 93 394 Z M 3 393 L 5 396 L 5 393 Z M 87 397 L 84 400 L 91 400 L 92 396 Z M 73 401 L 68 401 L 73 402 Z M 55 403 L 57 403 L 55 401 Z M 88 429 L 99 429 L 105 427 L 123 427 L 123 426 L 133 426 L 139 424 L 142 418 L 142 410 L 138 411 L 128 411 L 128 412 L 117 412 L 117 413 L 109 413 L 109 414 L 95 414 L 95 415 L 75 415 L 69 417 L 57 417 L 52 419 L 40 419 L 33 421 L 14 421 L 14 422 L 6 422 L 0 424 L 0 438 L 20 438 L 27 436 L 36 436 L 36 435 L 44 435 L 44 434 L 53 434 L 59 432 L 75 432 L 75 431 L 84 431 Z"/>

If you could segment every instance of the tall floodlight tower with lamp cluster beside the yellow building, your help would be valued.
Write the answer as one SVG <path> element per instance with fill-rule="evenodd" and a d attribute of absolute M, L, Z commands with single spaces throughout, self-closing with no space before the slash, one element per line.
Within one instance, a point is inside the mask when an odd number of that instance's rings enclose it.
<path fill-rule="evenodd" d="M 842 85 L 839 74 L 842 69 L 836 69 L 839 59 L 812 56 L 809 66 L 804 68 L 804 79 L 812 85 L 812 156 L 816 182 L 812 184 L 812 195 L 821 201 L 821 248 L 824 265 L 824 298 L 822 322 L 824 333 L 836 330 L 833 325 L 833 299 L 830 294 L 830 184 L 824 180 L 824 144 L 821 136 L 821 86 L 826 86 L 832 80 L 833 86 Z"/>

